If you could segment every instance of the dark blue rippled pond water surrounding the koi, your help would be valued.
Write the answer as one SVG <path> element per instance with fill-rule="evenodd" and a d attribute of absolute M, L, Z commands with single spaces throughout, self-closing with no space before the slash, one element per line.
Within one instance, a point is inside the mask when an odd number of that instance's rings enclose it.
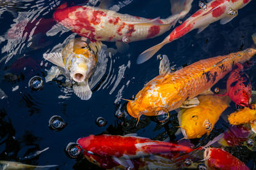
<path fill-rule="evenodd" d="M 175 113 L 164 125 L 157 123 L 154 118 L 142 117 L 136 127 L 136 120 L 124 111 L 126 102 L 120 99 L 131 99 L 147 81 L 159 74 L 159 60 L 156 57 L 141 65 L 136 64 L 136 59 L 145 49 L 162 41 L 170 31 L 154 39 L 130 43 L 127 53 L 116 53 L 111 56 L 106 73 L 93 88 L 93 95 L 89 101 L 82 101 L 56 81 L 45 83 L 44 89 L 38 91 L 28 87 L 28 82 L 33 76 L 44 78 L 46 70 L 52 66 L 45 64 L 43 53 L 49 52 L 73 34 L 70 31 L 65 32 L 65 29 L 51 36 L 46 33 L 54 25 L 51 21 L 52 13 L 61 3 L 64 1 L 0 2 L 0 88 L 8 96 L 1 99 L 0 104 L 0 160 L 33 165 L 56 164 L 59 165 L 58 169 L 96 169 L 98 167 L 90 162 L 69 159 L 64 152 L 67 144 L 90 134 L 137 133 L 138 136 L 151 139 L 170 137 L 172 141 L 182 138 L 181 134 L 175 136 L 175 126 L 178 125 Z M 75 4 L 79 3 L 84 2 L 76 1 Z M 124 1 L 114 3 L 124 4 L 120 13 L 146 18 L 166 18 L 170 15 L 170 2 L 167 0 L 134 0 L 127 5 Z M 171 66 L 176 64 L 178 68 L 200 59 L 244 50 L 253 44 L 251 35 L 256 32 L 255 6 L 256 1 L 252 1 L 239 10 L 239 15 L 228 24 L 220 25 L 219 22 L 215 22 L 200 34 L 196 34 L 196 31 L 189 32 L 161 48 L 158 53 L 168 55 Z M 197 0 L 193 2 L 193 7 L 184 20 L 196 10 Z M 38 23 L 38 27 L 33 30 L 35 25 L 28 26 L 28 22 Z M 17 37 L 10 38 L 8 31 L 17 24 Z M 115 48 L 114 43 L 103 43 L 108 48 Z M 255 65 L 246 70 L 252 80 L 253 90 L 256 87 L 255 71 Z M 225 87 L 225 79 L 216 86 Z M 231 106 L 230 110 L 234 111 L 234 103 Z M 120 111 L 125 117 L 115 116 Z M 62 131 L 49 129 L 48 121 L 53 115 L 59 115 L 67 122 Z M 95 124 L 98 117 L 103 117 L 108 123 L 99 127 Z M 220 118 L 211 136 L 214 137 L 215 134 L 227 129 L 228 123 L 225 119 L 227 118 Z M 207 138 L 193 140 L 194 143 L 198 141 L 206 143 Z M 33 156 L 36 151 L 47 147 L 49 149 L 45 152 Z M 251 155 L 253 152 L 242 153 L 238 149 L 234 152 L 248 167 L 255 169 L 255 160 L 248 157 L 248 154 Z"/>

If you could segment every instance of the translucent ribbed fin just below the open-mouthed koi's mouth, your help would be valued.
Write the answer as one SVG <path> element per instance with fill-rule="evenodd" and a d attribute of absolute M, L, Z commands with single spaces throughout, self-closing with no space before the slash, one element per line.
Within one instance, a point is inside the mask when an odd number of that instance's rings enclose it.
<path fill-rule="evenodd" d="M 81 85 L 74 85 L 73 89 L 76 96 L 82 100 L 87 101 L 92 97 L 92 91 L 88 85 L 88 80 L 85 80 Z"/>

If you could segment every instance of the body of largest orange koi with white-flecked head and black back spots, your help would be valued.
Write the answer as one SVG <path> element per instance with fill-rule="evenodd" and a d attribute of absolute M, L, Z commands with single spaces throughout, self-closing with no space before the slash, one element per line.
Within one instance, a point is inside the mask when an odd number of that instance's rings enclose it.
<path fill-rule="evenodd" d="M 156 116 L 179 108 L 184 101 L 198 96 L 223 78 L 237 62 L 245 62 L 255 55 L 255 48 L 241 52 L 199 60 L 174 73 L 160 74 L 150 80 L 138 92 L 134 101 L 129 101 L 129 115 Z"/>

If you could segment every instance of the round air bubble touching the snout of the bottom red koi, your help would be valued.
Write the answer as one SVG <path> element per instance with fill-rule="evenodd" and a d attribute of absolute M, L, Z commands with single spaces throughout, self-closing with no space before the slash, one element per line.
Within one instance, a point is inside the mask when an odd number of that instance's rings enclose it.
<path fill-rule="evenodd" d="M 77 159 L 83 155 L 83 149 L 77 143 L 68 143 L 65 152 L 72 159 Z"/>

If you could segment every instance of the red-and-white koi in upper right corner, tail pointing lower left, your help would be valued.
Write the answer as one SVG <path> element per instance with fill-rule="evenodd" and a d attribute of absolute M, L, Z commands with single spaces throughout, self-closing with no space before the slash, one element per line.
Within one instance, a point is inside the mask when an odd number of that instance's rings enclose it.
<path fill-rule="evenodd" d="M 214 0 L 208 4 L 200 4 L 202 9 L 196 11 L 185 22 L 176 27 L 161 43 L 141 53 L 137 59 L 137 64 L 141 64 L 150 59 L 164 45 L 184 36 L 193 29 L 198 29 L 198 33 L 200 33 L 217 20 L 220 20 L 220 24 L 230 22 L 230 20 L 237 16 L 237 10 L 246 6 L 250 1 L 251 0 Z"/>

